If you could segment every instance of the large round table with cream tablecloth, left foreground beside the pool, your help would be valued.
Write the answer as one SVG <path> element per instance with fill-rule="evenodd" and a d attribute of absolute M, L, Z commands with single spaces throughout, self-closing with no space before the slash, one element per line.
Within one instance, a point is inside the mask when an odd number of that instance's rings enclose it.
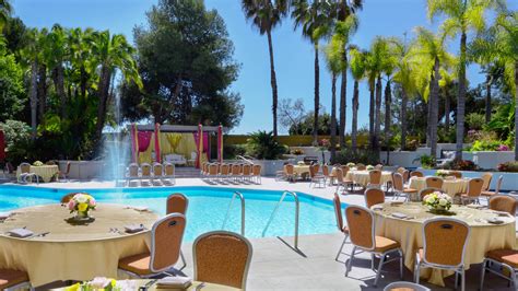
<path fill-rule="evenodd" d="M 91 211 L 95 221 L 83 225 L 66 222 L 73 214 L 61 205 L 16 209 L 12 213 L 0 223 L 0 269 L 26 271 L 34 287 L 96 276 L 117 278 L 119 258 L 149 249 L 150 229 L 158 218 L 148 210 L 105 203 Z M 144 231 L 125 232 L 125 225 L 141 223 Z M 36 235 L 48 234 L 16 238 L 7 233 L 24 226 Z"/>

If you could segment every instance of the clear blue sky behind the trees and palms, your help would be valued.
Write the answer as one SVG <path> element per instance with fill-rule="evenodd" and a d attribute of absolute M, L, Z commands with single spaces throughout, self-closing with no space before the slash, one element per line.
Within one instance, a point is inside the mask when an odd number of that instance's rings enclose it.
<path fill-rule="evenodd" d="M 145 23 L 145 11 L 155 0 L 13 0 L 14 14 L 26 25 L 45 27 L 60 23 L 67 27 L 94 27 L 125 34 L 132 39 L 134 25 Z M 256 28 L 246 22 L 238 0 L 205 0 L 209 9 L 216 9 L 225 20 L 235 46 L 235 59 L 242 63 L 238 80 L 232 90 L 239 92 L 245 105 L 240 125 L 233 133 L 248 133 L 255 130 L 271 130 L 271 88 L 268 44 Z M 518 3 L 508 1 L 511 9 Z M 365 0 L 358 13 L 360 30 L 353 43 L 367 48 L 377 35 L 403 36 L 412 34 L 415 26 L 437 28 L 436 20 L 426 19 L 425 0 Z M 314 50 L 311 45 L 293 30 L 293 22 L 285 19 L 273 32 L 273 47 L 280 98 L 303 98 L 307 109 L 313 108 L 314 98 Z M 457 40 L 450 42 L 456 53 Z M 470 66 L 468 78 L 471 85 L 483 82 L 476 66 Z M 350 78 L 351 80 L 351 78 Z M 320 96 L 321 104 L 329 112 L 331 107 L 330 75 L 321 58 Z M 348 86 L 348 131 L 351 127 L 352 82 Z M 368 91 L 366 84 L 360 89 L 360 125 L 368 123 Z"/>

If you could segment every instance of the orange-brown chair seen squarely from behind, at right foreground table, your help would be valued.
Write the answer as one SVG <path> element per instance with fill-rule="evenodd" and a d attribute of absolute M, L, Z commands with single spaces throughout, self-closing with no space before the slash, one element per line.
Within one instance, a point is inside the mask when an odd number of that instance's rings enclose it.
<path fill-rule="evenodd" d="M 423 224 L 423 248 L 415 254 L 415 282 L 420 281 L 422 268 L 450 270 L 456 273 L 455 287 L 460 276 L 460 290 L 464 291 L 464 254 L 469 237 L 470 226 L 463 221 L 444 217 L 426 220 Z"/>

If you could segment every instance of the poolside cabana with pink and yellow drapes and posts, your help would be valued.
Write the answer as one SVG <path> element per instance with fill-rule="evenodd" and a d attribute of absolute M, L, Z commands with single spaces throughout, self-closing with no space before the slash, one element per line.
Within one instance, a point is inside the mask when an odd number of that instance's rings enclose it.
<path fill-rule="evenodd" d="M 216 136 L 217 161 L 223 161 L 222 126 L 130 125 L 133 163 L 172 162 L 196 167 L 211 159 L 211 136 Z"/>

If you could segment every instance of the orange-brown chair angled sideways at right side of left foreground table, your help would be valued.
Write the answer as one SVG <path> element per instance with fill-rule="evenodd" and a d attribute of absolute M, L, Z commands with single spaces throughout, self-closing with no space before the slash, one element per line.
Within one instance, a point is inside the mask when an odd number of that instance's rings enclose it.
<path fill-rule="evenodd" d="M 151 229 L 149 252 L 119 259 L 119 270 L 137 278 L 172 275 L 181 252 L 186 218 L 170 213 L 160 219 Z"/>

